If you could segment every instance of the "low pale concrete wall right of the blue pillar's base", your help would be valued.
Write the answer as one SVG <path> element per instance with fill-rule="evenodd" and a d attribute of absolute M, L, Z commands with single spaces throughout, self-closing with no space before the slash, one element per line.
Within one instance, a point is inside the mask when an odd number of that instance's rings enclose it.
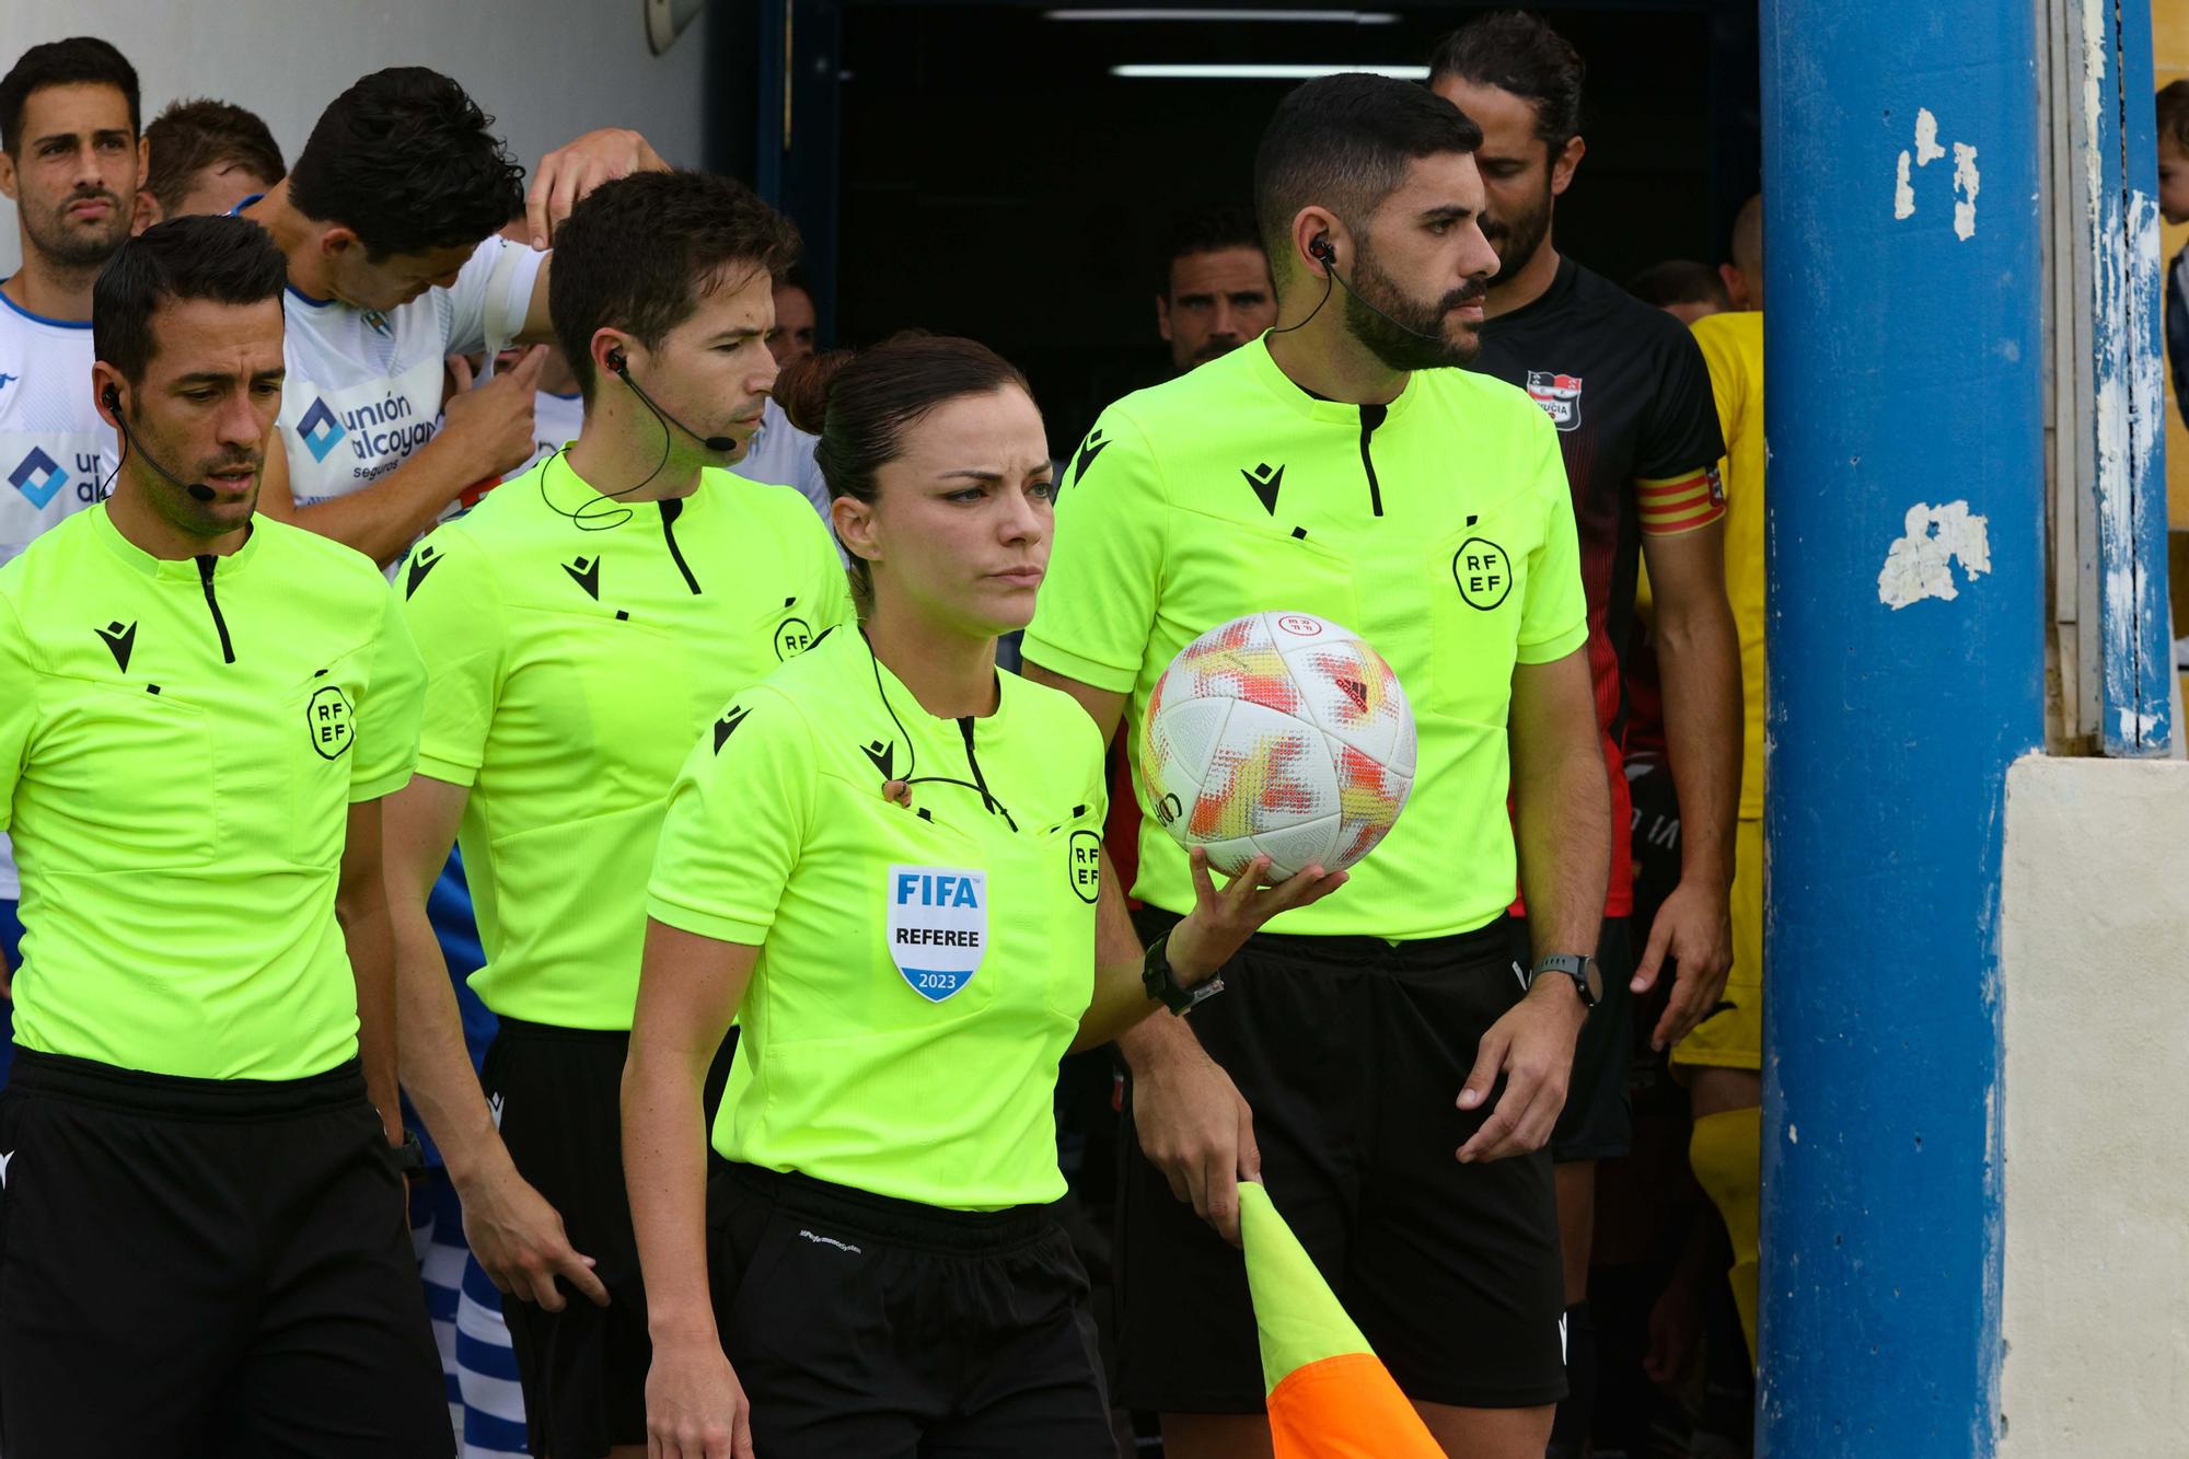
<path fill-rule="evenodd" d="M 2001 900 L 1999 1455 L 2171 1459 L 2189 1433 L 2189 765 L 2020 760 Z M 1909 986 L 1920 999 L 1920 970 Z"/>

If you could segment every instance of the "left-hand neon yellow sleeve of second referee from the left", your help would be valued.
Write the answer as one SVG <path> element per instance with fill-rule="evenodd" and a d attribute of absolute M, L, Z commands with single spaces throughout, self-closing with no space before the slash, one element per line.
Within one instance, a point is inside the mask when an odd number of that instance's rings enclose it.
<path fill-rule="evenodd" d="M 471 786 L 486 760 L 508 637 L 493 563 L 460 528 L 444 526 L 396 570 L 392 602 L 425 659 L 418 773 Z"/>

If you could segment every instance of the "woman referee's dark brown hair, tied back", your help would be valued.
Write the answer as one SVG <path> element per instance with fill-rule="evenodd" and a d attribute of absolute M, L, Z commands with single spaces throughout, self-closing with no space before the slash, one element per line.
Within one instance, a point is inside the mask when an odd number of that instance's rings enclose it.
<path fill-rule="evenodd" d="M 560 267 L 560 265 L 556 265 Z M 976 340 L 904 333 L 867 351 L 825 351 L 775 381 L 790 423 L 819 436 L 814 464 L 827 495 L 873 502 L 876 471 L 904 456 L 904 436 L 950 401 L 1016 386 L 1033 399 L 1018 366 Z M 852 559 L 860 596 L 873 594 L 867 563 Z"/>

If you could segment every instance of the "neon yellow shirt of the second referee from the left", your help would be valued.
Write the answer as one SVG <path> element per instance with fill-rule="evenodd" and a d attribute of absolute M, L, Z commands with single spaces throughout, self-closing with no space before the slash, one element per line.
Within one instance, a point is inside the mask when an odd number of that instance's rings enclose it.
<path fill-rule="evenodd" d="M 503 1016 L 628 1030 L 670 784 L 725 699 L 852 618 L 836 543 L 784 486 L 703 471 L 617 502 L 554 456 L 427 537 L 394 591 L 429 681 L 418 773 L 471 789 L 471 986 Z"/>

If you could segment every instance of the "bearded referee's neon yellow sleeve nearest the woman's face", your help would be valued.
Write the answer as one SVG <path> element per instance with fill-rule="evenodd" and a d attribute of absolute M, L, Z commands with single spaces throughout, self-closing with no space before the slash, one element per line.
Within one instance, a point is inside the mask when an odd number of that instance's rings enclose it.
<path fill-rule="evenodd" d="M 1031 664 L 1130 694 L 1162 596 L 1169 493 L 1130 416 L 1110 407 L 1057 495 L 1057 541 L 1027 627 Z"/>

